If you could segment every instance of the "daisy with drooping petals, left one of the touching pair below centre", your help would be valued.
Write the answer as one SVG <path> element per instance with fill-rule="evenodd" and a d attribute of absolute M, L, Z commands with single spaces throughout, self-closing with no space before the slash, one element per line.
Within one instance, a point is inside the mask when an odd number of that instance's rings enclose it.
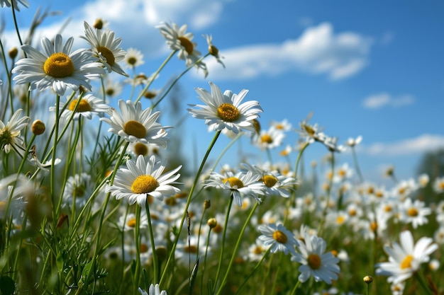
<path fill-rule="evenodd" d="M 205 187 L 216 187 L 222 190 L 229 190 L 238 207 L 243 205 L 243 197 L 251 196 L 260 202 L 258 195 L 263 195 L 263 185 L 258 183 L 260 175 L 252 171 L 238 172 L 236 174 L 227 171 L 224 175 L 212 172 L 206 180 Z"/>

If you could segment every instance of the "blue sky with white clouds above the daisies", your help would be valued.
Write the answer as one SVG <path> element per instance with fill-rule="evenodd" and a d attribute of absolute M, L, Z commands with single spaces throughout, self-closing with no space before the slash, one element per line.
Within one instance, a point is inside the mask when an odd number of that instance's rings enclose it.
<path fill-rule="evenodd" d="M 55 35 L 70 18 L 62 35 L 77 37 L 84 33 L 83 21 L 103 18 L 122 37 L 124 50 L 135 47 L 143 52 L 145 64 L 138 71 L 145 74 L 155 71 L 168 54 L 155 29 L 161 21 L 187 23 L 201 52 L 206 52 L 201 35 L 213 35 L 226 69 L 208 59 L 206 79 L 201 72 L 190 71 L 180 82 L 184 108 L 187 103 L 199 103 L 195 87 L 209 89 L 208 81 L 213 81 L 235 93 L 248 89 L 245 100 L 258 100 L 264 109 L 263 128 L 285 119 L 298 127 L 313 112 L 310 122 L 338 137 L 339 143 L 363 137 L 357 156 L 368 180 L 381 180 L 384 169 L 392 165 L 399 178 L 414 177 L 423 153 L 444 147 L 442 1 L 29 2 L 30 7 L 17 14 L 23 30 L 38 6 L 61 11 L 45 19 L 40 36 Z M 6 47 L 15 45 L 11 11 L 3 8 L 0 13 L 6 20 L 2 40 Z M 79 45 L 87 46 L 82 40 Z M 183 62 L 174 58 L 153 87 L 162 87 L 183 69 Z M 203 155 L 213 134 L 191 116 L 183 124 L 181 132 L 189 139 L 185 152 L 193 157 L 192 142 L 197 141 L 198 153 Z M 296 132 L 289 132 L 284 144 L 295 145 L 297 139 Z M 213 156 L 228 142 L 221 139 Z M 266 160 L 265 153 L 250 148 L 247 140 L 241 144 L 257 155 L 255 159 Z M 233 147 L 223 162 L 231 162 L 237 149 Z M 326 149 L 314 144 L 305 160 L 320 162 L 325 155 Z M 284 161 L 277 153 L 273 159 Z M 338 155 L 338 162 L 351 165 L 350 153 Z"/>

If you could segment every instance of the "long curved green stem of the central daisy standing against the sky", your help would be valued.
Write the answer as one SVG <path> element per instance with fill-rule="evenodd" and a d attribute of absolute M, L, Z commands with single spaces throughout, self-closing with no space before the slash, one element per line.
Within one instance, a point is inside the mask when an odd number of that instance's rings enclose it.
<path fill-rule="evenodd" d="M 179 228 L 177 229 L 177 236 L 174 238 L 174 243 L 172 244 L 172 249 L 170 251 L 170 255 L 168 256 L 168 260 L 165 265 L 165 269 L 163 270 L 162 276 L 160 277 L 160 282 L 159 282 L 160 285 L 162 285 L 162 283 L 165 281 L 165 279 L 167 277 L 166 274 L 167 274 L 168 268 L 170 267 L 170 264 L 173 261 L 174 251 L 176 250 L 177 242 L 179 241 L 180 232 L 182 231 L 182 228 L 184 227 L 184 221 L 185 221 L 185 218 L 187 217 L 188 207 L 192 201 L 192 195 L 194 193 L 194 190 L 196 189 L 197 182 L 198 182 L 199 177 L 202 173 L 202 170 L 204 169 L 204 165 L 206 163 L 207 158 L 209 157 L 211 149 L 213 149 L 213 146 L 214 146 L 214 144 L 216 144 L 216 140 L 218 139 L 220 134 L 221 134 L 221 131 L 218 131 L 218 132 L 216 132 L 216 134 L 214 134 L 213 140 L 211 141 L 211 144 L 210 144 L 209 148 L 206 150 L 206 154 L 205 154 L 204 158 L 202 159 L 201 166 L 199 167 L 199 170 L 197 170 L 196 177 L 194 178 L 192 188 L 189 190 L 187 204 L 185 204 L 184 214 L 182 214 L 182 220 L 180 221 Z"/>

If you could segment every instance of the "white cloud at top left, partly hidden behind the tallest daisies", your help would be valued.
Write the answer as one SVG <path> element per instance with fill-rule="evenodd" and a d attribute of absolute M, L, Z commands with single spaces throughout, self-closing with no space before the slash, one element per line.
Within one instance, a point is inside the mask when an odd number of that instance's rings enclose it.
<path fill-rule="evenodd" d="M 206 28 L 217 23 L 223 12 L 223 4 L 229 0 L 94 0 L 86 1 L 82 6 L 64 11 L 63 16 L 70 18 L 70 23 L 63 31 L 64 40 L 74 37 L 74 47 L 85 46 L 85 42 L 77 40 L 84 35 L 83 22 L 91 25 L 97 18 L 109 23 L 116 37 L 122 38 L 122 47 L 136 47 L 146 52 L 145 57 L 156 55 L 165 50 L 165 40 L 155 25 L 161 21 L 174 22 L 178 25 L 188 24 L 189 30 Z M 110 9 L 112 7 L 112 9 Z M 51 18 L 38 27 L 35 40 L 40 37 L 52 37 L 59 33 L 63 21 L 54 22 Z M 50 23 L 50 25 L 45 25 Z M 26 35 L 27 28 L 21 28 Z M 2 33 L 2 40 L 10 47 L 18 46 L 15 31 Z M 35 45 L 35 43 L 34 43 Z"/>

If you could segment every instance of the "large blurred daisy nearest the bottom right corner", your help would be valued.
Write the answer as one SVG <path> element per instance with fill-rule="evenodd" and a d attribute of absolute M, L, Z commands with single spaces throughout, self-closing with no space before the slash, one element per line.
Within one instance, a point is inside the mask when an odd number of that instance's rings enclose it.
<path fill-rule="evenodd" d="M 423 262 L 428 262 L 428 256 L 438 249 L 432 238 L 422 237 L 415 245 L 410 231 L 402 231 L 399 241 L 401 245 L 394 242 L 392 247 L 384 246 L 385 253 L 389 255 L 389 262 L 376 265 L 376 274 L 389 276 L 387 282 L 393 284 L 409 279 Z"/>

